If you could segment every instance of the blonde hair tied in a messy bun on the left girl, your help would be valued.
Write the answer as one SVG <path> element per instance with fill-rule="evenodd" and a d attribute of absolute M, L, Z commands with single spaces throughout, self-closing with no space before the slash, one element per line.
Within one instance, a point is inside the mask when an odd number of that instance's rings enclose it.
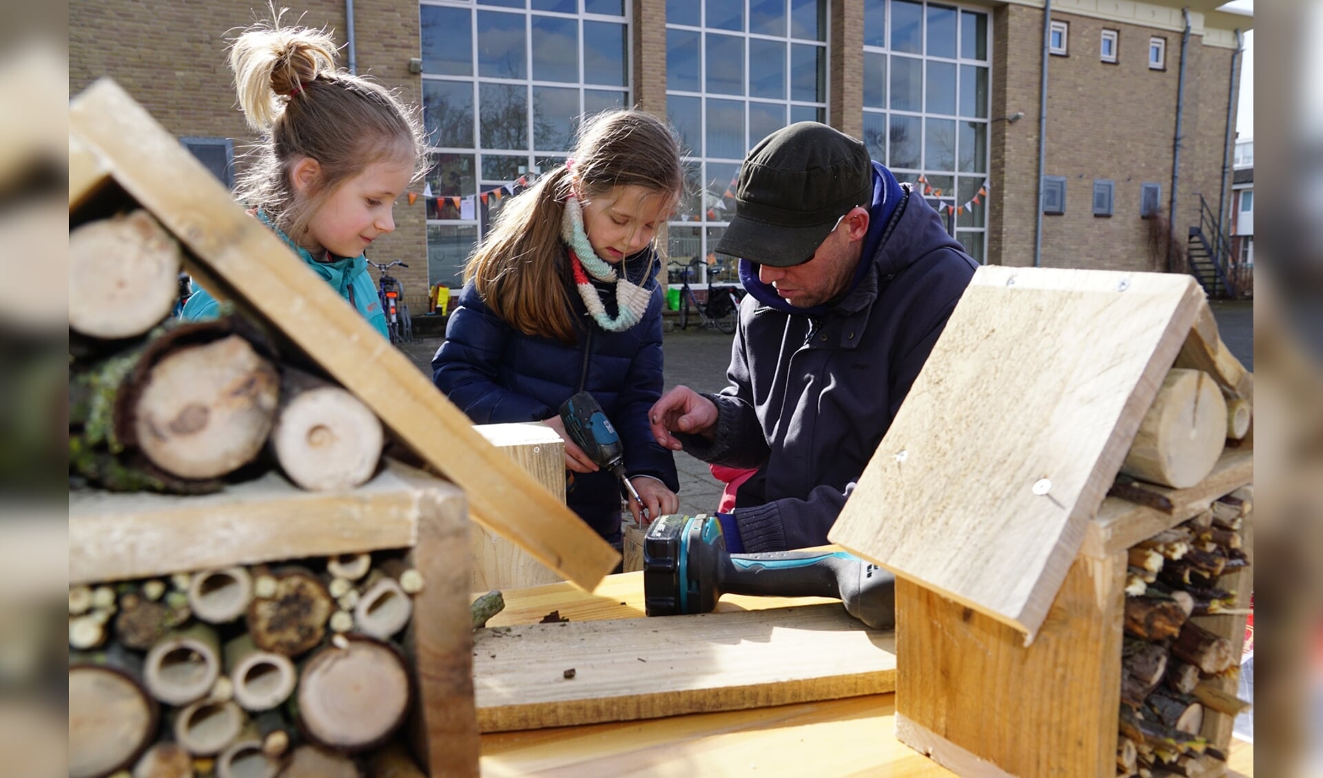
<path fill-rule="evenodd" d="M 335 40 L 324 29 L 273 21 L 243 30 L 230 45 L 239 108 L 261 140 L 243 155 L 235 194 L 267 214 L 294 240 L 344 181 L 385 160 L 413 159 L 422 176 L 426 144 L 417 107 L 381 85 L 336 69 Z M 296 197 L 290 169 L 318 161 L 307 197 Z"/>

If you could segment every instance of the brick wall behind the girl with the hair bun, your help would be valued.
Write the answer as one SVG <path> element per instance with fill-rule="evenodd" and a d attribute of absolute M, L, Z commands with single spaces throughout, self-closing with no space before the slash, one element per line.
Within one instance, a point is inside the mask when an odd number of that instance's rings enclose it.
<path fill-rule="evenodd" d="M 196 4 L 144 4 L 130 0 L 75 0 L 69 5 L 69 91 L 77 95 L 99 77 L 119 82 L 135 100 L 177 136 L 234 140 L 235 155 L 257 136 L 234 96 L 226 37 L 254 22 L 259 4 L 217 0 Z M 344 3 L 306 0 L 286 15 L 302 13 L 306 26 L 333 28 L 345 42 Z M 359 73 L 400 90 L 417 103 L 421 81 L 409 73 L 418 57 L 417 0 L 359 0 L 355 5 Z M 341 66 L 347 66 L 341 50 Z M 397 277 L 414 312 L 426 310 L 427 243 L 422 201 L 396 205 L 396 231 L 373 243 L 374 262 L 409 263 Z M 376 277 L 376 273 L 373 275 Z"/>

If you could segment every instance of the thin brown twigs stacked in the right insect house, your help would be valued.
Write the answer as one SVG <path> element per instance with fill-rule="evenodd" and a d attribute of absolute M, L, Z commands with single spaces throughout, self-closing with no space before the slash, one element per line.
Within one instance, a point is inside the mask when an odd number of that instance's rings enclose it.
<path fill-rule="evenodd" d="M 1121 672 L 1117 774 L 1221 774 L 1225 754 L 1201 732 L 1215 716 L 1249 703 L 1222 690 L 1240 671 L 1230 641 L 1191 621 L 1236 617 L 1224 576 L 1249 564 L 1241 530 L 1248 493 L 1213 502 L 1208 511 L 1130 549 Z M 1226 586 L 1226 588 L 1222 588 Z"/>

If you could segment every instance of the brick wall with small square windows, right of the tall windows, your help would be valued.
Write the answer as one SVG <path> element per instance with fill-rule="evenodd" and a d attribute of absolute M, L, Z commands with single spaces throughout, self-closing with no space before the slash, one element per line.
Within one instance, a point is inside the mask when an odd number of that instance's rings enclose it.
<path fill-rule="evenodd" d="M 1043 217 L 1044 267 L 1163 269 L 1150 256 L 1148 222 L 1139 218 L 1140 185 L 1171 197 L 1172 139 L 1180 74 L 1179 32 L 1155 30 L 1053 12 L 1069 26 L 1068 54 L 1048 63 L 1048 143 L 1044 173 L 1066 178 L 1066 209 Z M 1103 29 L 1119 33 L 1118 61 L 1099 58 Z M 1166 70 L 1148 67 L 1150 37 L 1167 38 Z M 994 122 L 988 255 L 1000 264 L 1033 264 L 1037 214 L 1039 78 L 1043 12 L 1020 5 L 994 15 Z M 1199 221 L 1199 198 L 1216 201 L 1226 127 L 1230 50 L 1205 48 L 1191 34 L 1187 52 L 1184 143 L 1174 232 L 1184 242 Z M 1094 180 L 1115 182 L 1113 215 L 1093 215 Z M 1216 207 L 1216 205 L 1215 205 Z"/>

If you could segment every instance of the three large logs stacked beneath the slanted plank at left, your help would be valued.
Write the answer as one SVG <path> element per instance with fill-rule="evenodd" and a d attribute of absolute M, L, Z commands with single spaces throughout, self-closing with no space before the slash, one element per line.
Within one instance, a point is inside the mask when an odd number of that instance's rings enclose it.
<path fill-rule="evenodd" d="M 286 363 L 235 313 L 167 320 L 181 262 L 179 243 L 142 210 L 70 232 L 70 476 L 179 494 L 273 466 L 308 490 L 370 478 L 384 433 L 357 398 Z"/>

